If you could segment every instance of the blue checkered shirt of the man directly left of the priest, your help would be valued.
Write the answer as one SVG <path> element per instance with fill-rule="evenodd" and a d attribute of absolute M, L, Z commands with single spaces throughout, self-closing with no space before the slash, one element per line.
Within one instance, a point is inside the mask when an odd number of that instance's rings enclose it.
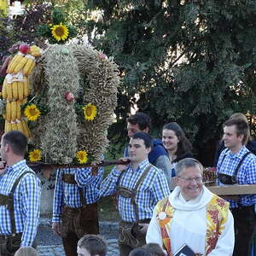
<path fill-rule="evenodd" d="M 143 160 L 137 170 L 133 170 L 131 165 L 120 176 L 116 168 L 108 174 L 101 185 L 100 196 L 113 195 L 117 192 L 117 183 L 126 189 L 134 189 L 138 179 L 148 167 L 149 162 Z M 147 176 L 137 189 L 136 204 L 138 207 L 139 219 L 151 218 L 156 203 L 170 194 L 165 174 L 155 166 L 152 166 Z M 119 195 L 118 210 L 121 218 L 127 222 L 137 221 L 131 198 Z"/>

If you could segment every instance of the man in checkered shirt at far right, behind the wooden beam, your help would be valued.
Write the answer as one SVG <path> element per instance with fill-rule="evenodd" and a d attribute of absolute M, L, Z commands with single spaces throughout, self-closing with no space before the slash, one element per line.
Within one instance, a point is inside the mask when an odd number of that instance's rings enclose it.
<path fill-rule="evenodd" d="M 244 146 L 247 131 L 247 122 L 242 119 L 229 119 L 224 123 L 223 139 L 226 149 L 220 154 L 217 165 L 220 184 L 232 184 L 232 177 L 237 184 L 256 184 L 256 156 Z M 236 234 L 233 255 L 248 256 L 256 226 L 256 195 L 239 195 L 235 201 L 229 202 Z"/>

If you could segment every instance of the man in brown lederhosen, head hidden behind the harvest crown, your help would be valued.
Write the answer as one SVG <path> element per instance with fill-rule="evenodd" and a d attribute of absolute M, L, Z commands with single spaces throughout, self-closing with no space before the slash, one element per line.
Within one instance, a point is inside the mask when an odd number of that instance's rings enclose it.
<path fill-rule="evenodd" d="M 102 175 L 102 168 L 57 170 L 52 229 L 61 236 L 66 256 L 78 255 L 82 236 L 99 233 L 96 188 Z"/>

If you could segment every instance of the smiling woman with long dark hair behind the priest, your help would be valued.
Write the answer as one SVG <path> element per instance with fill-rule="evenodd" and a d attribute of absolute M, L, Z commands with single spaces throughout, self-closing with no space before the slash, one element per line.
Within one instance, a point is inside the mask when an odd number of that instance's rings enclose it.
<path fill-rule="evenodd" d="M 162 141 L 172 164 L 172 177 L 175 177 L 175 166 L 177 165 L 177 161 L 187 157 L 192 157 L 191 143 L 185 136 L 183 129 L 177 125 L 176 122 L 164 125 L 162 131 Z M 173 182 L 171 184 L 171 189 L 174 189 Z"/>

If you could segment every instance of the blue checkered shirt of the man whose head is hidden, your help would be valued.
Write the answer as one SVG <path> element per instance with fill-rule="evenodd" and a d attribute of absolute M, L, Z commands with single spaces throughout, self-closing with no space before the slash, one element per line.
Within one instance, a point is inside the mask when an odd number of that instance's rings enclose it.
<path fill-rule="evenodd" d="M 78 208 L 82 206 L 79 196 L 79 187 L 84 191 L 86 204 L 98 201 L 97 189 L 102 182 L 103 168 L 98 169 L 97 175 L 91 175 L 91 168 L 70 168 L 57 170 L 55 181 L 55 195 L 53 204 L 53 222 L 61 221 L 61 207 Z M 78 184 L 69 184 L 62 181 L 63 173 L 73 174 Z"/>

